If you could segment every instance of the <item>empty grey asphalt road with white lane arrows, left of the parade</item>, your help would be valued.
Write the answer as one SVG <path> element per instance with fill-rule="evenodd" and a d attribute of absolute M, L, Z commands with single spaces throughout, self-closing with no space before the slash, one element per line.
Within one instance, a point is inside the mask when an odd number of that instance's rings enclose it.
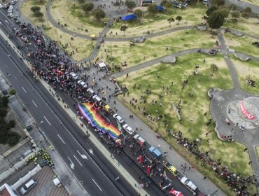
<path fill-rule="evenodd" d="M 0 10 L 0 22 L 0 28 L 5 34 L 13 34 L 11 29 L 18 27 L 6 17 L 4 10 Z M 15 45 L 23 44 L 19 38 L 13 38 L 12 41 Z M 34 45 L 27 47 L 30 50 L 36 49 Z M 28 48 L 22 48 L 24 54 Z M 83 137 L 80 128 L 57 104 L 50 92 L 41 83 L 35 82 L 26 72 L 27 66 L 1 36 L 0 50 L 1 71 L 17 90 L 18 96 L 41 130 L 50 139 L 55 150 L 61 155 L 66 165 L 71 167 L 76 179 L 82 182 L 87 193 L 89 195 L 137 195 L 134 188 L 104 158 L 97 147 L 89 139 Z M 64 99 L 66 102 L 73 102 L 69 97 L 64 97 Z M 120 162 L 135 179 L 145 175 L 134 163 L 127 165 L 128 160 L 129 158 L 124 155 L 121 156 Z M 117 176 L 120 176 L 118 181 L 116 181 Z M 174 181 L 174 186 L 185 193 L 184 195 L 191 195 L 179 181 Z M 155 184 L 149 186 L 147 192 L 150 195 L 165 195 Z"/>

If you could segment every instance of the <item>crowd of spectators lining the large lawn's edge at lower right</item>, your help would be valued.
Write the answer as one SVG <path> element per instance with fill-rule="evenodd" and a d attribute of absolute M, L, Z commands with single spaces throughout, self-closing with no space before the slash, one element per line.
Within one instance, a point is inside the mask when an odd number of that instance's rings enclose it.
<path fill-rule="evenodd" d="M 141 85 L 137 87 L 136 84 L 133 86 L 134 89 L 141 90 Z M 164 90 L 164 88 L 162 88 Z M 151 92 L 151 84 L 148 85 L 148 89 L 145 90 L 146 92 Z M 148 93 L 147 93 L 148 94 Z M 160 97 L 161 99 L 162 97 Z M 221 164 L 221 160 L 213 160 L 211 156 L 209 155 L 209 151 L 203 152 L 199 148 L 199 143 L 201 139 L 195 139 L 194 141 L 190 141 L 187 137 L 183 136 L 183 133 L 181 131 L 174 132 L 172 130 L 169 130 L 167 120 L 165 120 L 166 114 L 162 113 L 162 110 L 155 110 L 156 113 L 150 113 L 146 110 L 146 105 L 141 106 L 141 102 L 144 104 L 153 104 L 156 108 L 159 108 L 161 106 L 162 101 L 158 99 L 153 99 L 152 101 L 148 101 L 146 96 L 143 94 L 140 95 L 139 101 L 137 98 L 132 97 L 130 99 L 130 105 L 134 107 L 134 109 L 138 109 L 140 113 L 142 113 L 146 118 L 148 118 L 149 123 L 157 123 L 158 121 L 162 121 L 165 124 L 165 132 L 167 134 L 171 135 L 174 139 L 176 139 L 176 143 L 180 146 L 183 146 L 183 148 L 187 148 L 188 151 L 195 155 L 197 159 L 201 161 L 201 165 L 209 165 L 211 166 L 211 169 L 213 169 L 214 173 L 218 176 L 220 176 L 224 181 L 232 188 L 233 191 L 235 191 L 236 195 L 244 196 L 244 195 L 250 195 L 249 194 L 249 186 L 253 183 L 255 185 L 258 185 L 257 179 L 255 179 L 255 176 L 241 176 L 241 174 L 235 174 L 234 172 L 231 172 L 228 167 Z M 138 104 L 138 102 L 140 104 Z M 181 100 L 179 104 L 176 105 L 177 109 L 181 111 Z M 207 114 L 207 113 L 206 113 Z M 204 113 L 204 116 L 206 115 Z M 209 119 L 209 121 L 206 123 L 206 125 L 209 125 L 213 123 L 212 119 Z M 189 129 L 190 131 L 190 129 Z M 207 133 L 209 134 L 209 132 Z M 206 136 L 207 136 L 206 134 Z M 223 138 L 226 141 L 232 141 L 232 136 L 223 136 Z M 209 139 L 207 140 L 209 143 Z"/>

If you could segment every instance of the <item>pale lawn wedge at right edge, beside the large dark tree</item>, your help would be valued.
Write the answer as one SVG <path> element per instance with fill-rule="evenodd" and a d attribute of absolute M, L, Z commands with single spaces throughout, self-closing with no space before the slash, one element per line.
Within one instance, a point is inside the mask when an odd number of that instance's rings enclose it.
<path fill-rule="evenodd" d="M 237 20 L 237 23 L 228 20 L 228 23 L 224 24 L 223 27 L 243 31 L 246 34 L 259 36 L 259 20 L 257 18 L 239 18 Z"/>

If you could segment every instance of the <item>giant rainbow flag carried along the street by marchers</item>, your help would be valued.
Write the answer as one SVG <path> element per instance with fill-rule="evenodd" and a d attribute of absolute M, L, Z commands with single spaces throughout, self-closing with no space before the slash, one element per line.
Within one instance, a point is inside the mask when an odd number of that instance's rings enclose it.
<path fill-rule="evenodd" d="M 107 124 L 104 118 L 99 116 L 97 110 L 94 109 L 92 104 L 90 103 L 78 103 L 78 109 L 80 114 L 88 120 L 88 122 L 92 125 L 92 127 L 96 127 L 98 130 L 103 133 L 109 134 L 113 139 L 118 139 L 120 136 L 120 131 L 113 125 Z"/>

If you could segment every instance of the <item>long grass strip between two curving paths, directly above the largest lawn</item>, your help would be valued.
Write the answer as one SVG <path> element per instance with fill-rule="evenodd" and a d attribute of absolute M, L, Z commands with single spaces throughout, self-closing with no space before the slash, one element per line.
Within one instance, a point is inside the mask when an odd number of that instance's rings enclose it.
<path fill-rule="evenodd" d="M 183 36 L 184 40 L 182 39 Z M 120 65 L 121 62 L 127 62 L 127 66 L 122 67 L 125 69 L 180 50 L 212 48 L 215 42 L 216 38 L 211 38 L 207 31 L 198 31 L 196 29 L 182 30 L 148 38 L 144 43 L 137 43 L 134 46 L 130 46 L 130 43 L 127 41 L 108 42 L 104 44 L 104 47 L 100 48 L 98 57 L 109 62 L 112 50 L 114 64 Z"/>

